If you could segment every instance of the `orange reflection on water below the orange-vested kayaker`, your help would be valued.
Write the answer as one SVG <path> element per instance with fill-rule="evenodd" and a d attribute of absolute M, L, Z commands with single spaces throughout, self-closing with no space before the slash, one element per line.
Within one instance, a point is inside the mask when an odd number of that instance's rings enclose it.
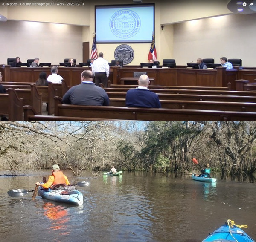
<path fill-rule="evenodd" d="M 45 202 L 43 205 L 44 215 L 51 221 L 50 230 L 60 230 L 60 235 L 67 235 L 70 230 L 67 230 L 68 210 L 61 205 L 55 205 L 52 202 Z"/>

